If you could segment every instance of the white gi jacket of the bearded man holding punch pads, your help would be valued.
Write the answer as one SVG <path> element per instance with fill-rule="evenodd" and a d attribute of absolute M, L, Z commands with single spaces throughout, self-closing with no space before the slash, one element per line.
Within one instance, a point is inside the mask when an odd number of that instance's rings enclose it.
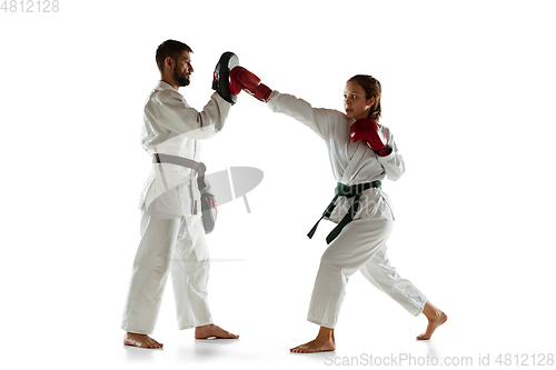
<path fill-rule="evenodd" d="M 201 112 L 170 84 L 159 81 L 145 104 L 141 143 L 149 154 L 200 161 L 200 142 L 222 128 L 231 104 L 215 92 Z M 139 208 L 161 217 L 200 214 L 197 173 L 189 168 L 156 163 L 141 192 Z"/>

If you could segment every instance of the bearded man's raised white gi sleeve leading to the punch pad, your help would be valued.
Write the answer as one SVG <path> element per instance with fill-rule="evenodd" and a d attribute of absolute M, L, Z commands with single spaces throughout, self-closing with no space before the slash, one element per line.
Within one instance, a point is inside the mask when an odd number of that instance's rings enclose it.
<path fill-rule="evenodd" d="M 230 107 L 229 102 L 215 92 L 203 110 L 198 112 L 187 106 L 182 98 L 165 90 L 156 99 L 149 100 L 145 107 L 145 116 L 150 122 L 158 122 L 176 134 L 205 140 L 224 128 Z"/>

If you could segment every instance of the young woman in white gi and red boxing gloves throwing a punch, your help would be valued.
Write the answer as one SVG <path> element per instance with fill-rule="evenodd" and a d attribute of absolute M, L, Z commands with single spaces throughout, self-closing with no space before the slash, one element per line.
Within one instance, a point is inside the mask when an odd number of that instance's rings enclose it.
<path fill-rule="evenodd" d="M 334 328 L 348 279 L 356 271 L 361 271 L 371 284 L 409 313 L 424 313 L 428 326 L 417 340 L 430 339 L 448 317 L 396 272 L 386 253 L 394 216 L 389 199 L 381 190 L 381 180 L 385 177 L 398 180 L 405 164 L 390 130 L 378 124 L 381 113 L 378 80 L 361 74 L 350 78 L 344 90 L 345 113 L 315 109 L 294 96 L 272 91 L 241 67 L 231 71 L 230 88 L 234 93 L 244 89 L 267 102 L 272 111 L 295 118 L 322 138 L 338 181 L 336 197 L 322 216 L 338 227 L 327 238 L 329 247 L 320 260 L 307 318 L 319 324 L 320 330 L 315 340 L 290 351 L 309 353 L 336 349 Z"/>

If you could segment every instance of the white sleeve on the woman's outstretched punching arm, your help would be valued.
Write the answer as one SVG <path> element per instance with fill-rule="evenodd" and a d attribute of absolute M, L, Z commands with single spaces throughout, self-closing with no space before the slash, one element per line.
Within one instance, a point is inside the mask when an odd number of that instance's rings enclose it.
<path fill-rule="evenodd" d="M 271 111 L 289 116 L 310 128 L 320 138 L 332 136 L 337 120 L 332 119 L 338 111 L 329 109 L 312 108 L 307 101 L 287 93 L 272 91 L 267 102 Z"/>

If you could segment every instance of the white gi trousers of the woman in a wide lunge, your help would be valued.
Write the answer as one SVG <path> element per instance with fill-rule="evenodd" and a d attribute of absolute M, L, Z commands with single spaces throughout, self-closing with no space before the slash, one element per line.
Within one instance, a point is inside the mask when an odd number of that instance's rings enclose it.
<path fill-rule="evenodd" d="M 390 296 L 414 316 L 427 298 L 409 280 L 403 279 L 386 256 L 386 240 L 391 233 L 391 212 L 349 222 L 320 259 L 307 320 L 334 329 L 349 277 L 356 271 Z"/>

